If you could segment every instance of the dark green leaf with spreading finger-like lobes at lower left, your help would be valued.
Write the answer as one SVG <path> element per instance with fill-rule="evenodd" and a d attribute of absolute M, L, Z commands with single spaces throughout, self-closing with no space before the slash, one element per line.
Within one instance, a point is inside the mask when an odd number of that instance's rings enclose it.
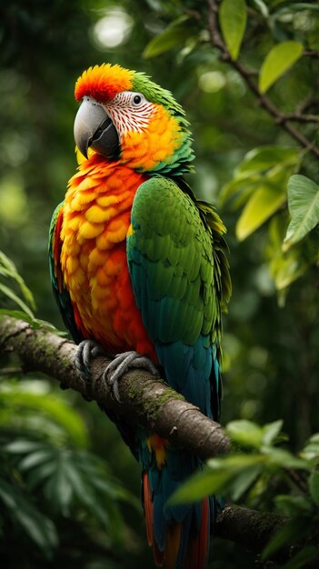
<path fill-rule="evenodd" d="M 108 473 L 105 463 L 84 450 L 59 448 L 20 439 L 4 447 L 15 460 L 25 487 L 42 494 L 58 514 L 89 513 L 107 527 L 115 541 L 122 540 L 124 523 L 118 501 L 136 507 L 136 499 Z M 21 458 L 22 456 L 22 458 Z M 138 511 L 140 507 L 138 506 Z"/>

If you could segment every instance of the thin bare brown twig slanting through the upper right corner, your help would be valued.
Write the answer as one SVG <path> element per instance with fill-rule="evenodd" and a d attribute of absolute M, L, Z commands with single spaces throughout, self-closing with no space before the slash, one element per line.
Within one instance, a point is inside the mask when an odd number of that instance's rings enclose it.
<path fill-rule="evenodd" d="M 210 35 L 211 43 L 214 47 L 217 47 L 222 53 L 222 59 L 229 65 L 232 65 L 234 69 L 241 75 L 244 79 L 244 83 L 249 87 L 249 89 L 254 93 L 257 98 L 258 104 L 262 106 L 269 115 L 274 117 L 275 123 L 284 128 L 284 130 L 291 135 L 296 142 L 303 148 L 306 148 L 317 158 L 319 157 L 319 147 L 314 145 L 308 138 L 306 138 L 299 130 L 294 128 L 290 124 L 291 121 L 299 123 L 310 123 L 316 122 L 311 117 L 311 120 L 307 116 L 301 116 L 299 113 L 294 115 L 284 115 L 281 111 L 272 103 L 272 101 L 262 94 L 254 80 L 254 71 L 247 69 L 240 61 L 232 59 L 229 51 L 224 44 L 222 36 L 219 33 L 217 24 L 217 14 L 218 5 L 215 0 L 207 0 L 208 3 L 208 32 Z M 307 53 L 309 55 L 309 53 Z"/>

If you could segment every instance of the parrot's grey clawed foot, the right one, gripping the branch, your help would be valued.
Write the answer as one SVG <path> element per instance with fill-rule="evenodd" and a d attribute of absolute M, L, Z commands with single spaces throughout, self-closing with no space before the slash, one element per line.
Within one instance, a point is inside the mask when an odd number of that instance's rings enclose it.
<path fill-rule="evenodd" d="M 116 401 L 120 403 L 120 394 L 118 391 L 118 380 L 130 368 L 142 367 L 153 375 L 159 377 L 159 371 L 155 364 L 145 355 L 137 354 L 137 352 L 124 352 L 116 354 L 115 359 L 108 364 L 103 374 L 105 382 L 112 387 Z"/>

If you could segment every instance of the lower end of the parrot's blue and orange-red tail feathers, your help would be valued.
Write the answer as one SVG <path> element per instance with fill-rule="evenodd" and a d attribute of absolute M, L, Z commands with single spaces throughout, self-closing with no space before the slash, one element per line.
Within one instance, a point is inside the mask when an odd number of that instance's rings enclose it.
<path fill-rule="evenodd" d="M 155 564 L 165 569 L 204 569 L 209 553 L 210 526 L 214 498 L 198 504 L 164 510 L 163 496 L 152 488 L 143 473 L 143 499 L 147 541 L 153 548 Z"/>

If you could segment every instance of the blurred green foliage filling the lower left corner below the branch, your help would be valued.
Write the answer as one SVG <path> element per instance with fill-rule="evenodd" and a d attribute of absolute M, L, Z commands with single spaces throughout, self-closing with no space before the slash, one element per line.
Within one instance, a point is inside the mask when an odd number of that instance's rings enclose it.
<path fill-rule="evenodd" d="M 82 528 L 93 549 L 96 532 L 113 547 L 124 543 L 118 503 L 135 507 L 137 501 L 115 482 L 105 461 L 86 450 L 88 444 L 83 418 L 48 384 L 1 384 L 1 526 L 8 543 L 25 542 L 34 563 L 41 549 L 55 564 L 65 543 L 61 520 Z"/>

